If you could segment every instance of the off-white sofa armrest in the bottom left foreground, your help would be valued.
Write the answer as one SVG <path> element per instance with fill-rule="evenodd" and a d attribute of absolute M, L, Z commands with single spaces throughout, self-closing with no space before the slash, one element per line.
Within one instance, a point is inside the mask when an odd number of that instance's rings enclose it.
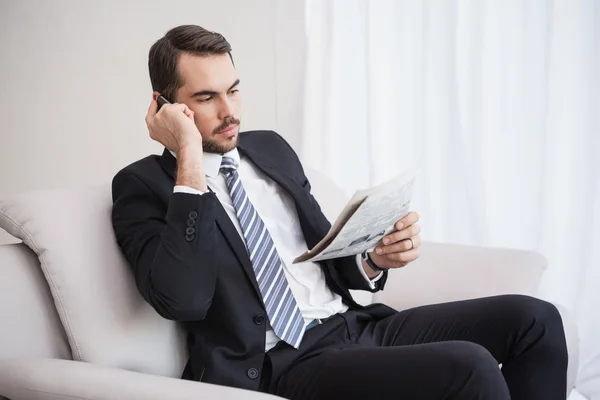
<path fill-rule="evenodd" d="M 58 359 L 0 361 L 0 396 L 11 400 L 278 398 L 249 390 Z"/>

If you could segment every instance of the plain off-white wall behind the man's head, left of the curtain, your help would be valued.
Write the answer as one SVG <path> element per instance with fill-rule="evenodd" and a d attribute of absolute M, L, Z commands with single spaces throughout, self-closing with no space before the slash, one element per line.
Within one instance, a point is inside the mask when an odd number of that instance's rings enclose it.
<path fill-rule="evenodd" d="M 130 162 L 160 153 L 144 123 L 148 50 L 180 24 L 202 25 L 231 43 L 243 84 L 242 129 L 274 129 L 297 146 L 303 7 L 0 0 L 0 197 L 110 181 Z"/>

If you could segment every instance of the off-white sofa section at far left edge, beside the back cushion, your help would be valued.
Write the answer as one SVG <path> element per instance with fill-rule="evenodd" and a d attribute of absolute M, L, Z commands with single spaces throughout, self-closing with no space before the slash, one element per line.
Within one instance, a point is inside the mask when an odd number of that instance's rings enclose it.
<path fill-rule="evenodd" d="M 0 359 L 70 359 L 71 349 L 33 251 L 0 246 Z"/>

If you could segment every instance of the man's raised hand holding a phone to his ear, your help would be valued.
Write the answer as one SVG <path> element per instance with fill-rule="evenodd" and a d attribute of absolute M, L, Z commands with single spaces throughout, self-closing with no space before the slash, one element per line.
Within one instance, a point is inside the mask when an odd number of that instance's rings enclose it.
<path fill-rule="evenodd" d="M 202 152 L 202 136 L 194 123 L 192 110 L 185 104 L 165 104 L 157 110 L 158 103 L 153 97 L 146 115 L 146 125 L 153 140 L 175 153 L 187 146 Z"/>

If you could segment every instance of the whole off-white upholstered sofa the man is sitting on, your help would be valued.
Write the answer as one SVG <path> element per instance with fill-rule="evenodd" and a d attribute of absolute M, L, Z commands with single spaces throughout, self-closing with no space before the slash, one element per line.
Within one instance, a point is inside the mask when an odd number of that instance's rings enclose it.
<path fill-rule="evenodd" d="M 324 212 L 346 196 L 308 171 Z M 0 246 L 0 396 L 22 399 L 268 399 L 178 379 L 180 328 L 138 295 L 114 243 L 108 185 L 27 193 L 0 201 L 0 227 L 23 240 Z M 390 274 L 374 298 L 397 309 L 502 293 L 535 295 L 546 266 L 535 253 L 424 243 L 421 258 Z M 578 337 L 560 308 L 569 391 Z"/>

